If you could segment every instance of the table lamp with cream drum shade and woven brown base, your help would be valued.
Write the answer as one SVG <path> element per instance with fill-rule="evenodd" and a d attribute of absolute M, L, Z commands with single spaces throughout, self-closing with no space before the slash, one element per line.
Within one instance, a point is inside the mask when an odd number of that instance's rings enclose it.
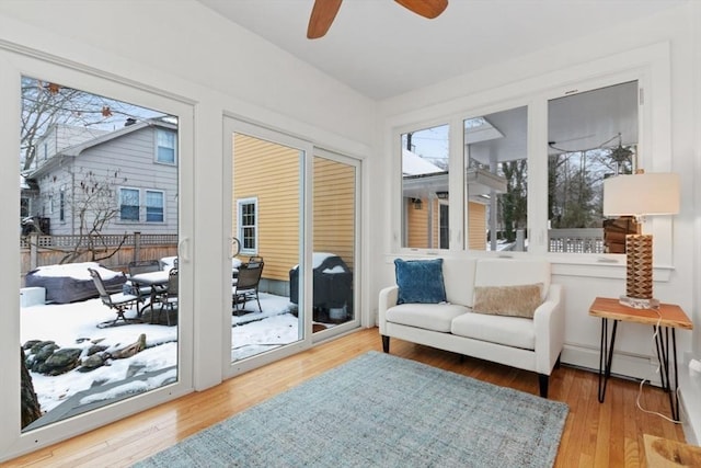
<path fill-rule="evenodd" d="M 641 232 L 642 218 L 679 213 L 679 175 L 645 173 L 604 180 L 604 216 L 634 216 L 637 233 L 625 236 L 625 296 L 620 303 L 653 309 L 653 237 Z"/>

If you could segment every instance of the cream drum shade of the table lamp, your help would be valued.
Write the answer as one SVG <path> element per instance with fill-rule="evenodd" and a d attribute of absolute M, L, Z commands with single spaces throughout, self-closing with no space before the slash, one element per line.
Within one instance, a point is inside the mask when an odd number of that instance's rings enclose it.
<path fill-rule="evenodd" d="M 651 172 L 604 180 L 604 216 L 679 213 L 679 174 Z"/>

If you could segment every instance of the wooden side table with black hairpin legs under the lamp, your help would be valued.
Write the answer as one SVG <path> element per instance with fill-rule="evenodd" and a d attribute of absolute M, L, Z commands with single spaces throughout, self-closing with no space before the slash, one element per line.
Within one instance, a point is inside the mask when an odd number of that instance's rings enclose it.
<path fill-rule="evenodd" d="M 655 347 L 660 366 L 660 379 L 663 389 L 669 395 L 671 419 L 679 421 L 679 400 L 677 398 L 677 338 L 675 330 L 693 329 L 693 323 L 681 307 L 673 304 L 660 304 L 657 309 L 634 309 L 623 306 L 618 299 L 597 297 L 589 307 L 589 315 L 601 319 L 601 347 L 599 350 L 599 402 L 606 397 L 606 384 L 611 377 L 611 361 L 616 344 L 616 329 L 620 321 L 653 326 L 655 332 Z M 613 327 L 609 338 L 609 320 L 613 320 Z M 671 335 L 671 350 L 669 349 Z M 671 354 L 671 368 L 669 355 Z M 674 384 L 671 379 L 674 378 Z"/>

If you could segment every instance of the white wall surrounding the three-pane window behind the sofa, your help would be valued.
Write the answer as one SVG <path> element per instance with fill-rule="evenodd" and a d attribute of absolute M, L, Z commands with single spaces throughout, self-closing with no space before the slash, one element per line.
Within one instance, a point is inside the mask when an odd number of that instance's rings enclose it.
<path fill-rule="evenodd" d="M 656 271 L 655 296 L 665 303 L 679 304 L 696 323 L 701 323 L 701 311 L 696 307 L 699 298 L 694 295 L 698 288 L 696 265 L 699 261 L 694 242 L 694 238 L 698 238 L 694 229 L 698 222 L 694 184 L 699 181 L 699 115 L 693 107 L 693 96 L 699 94 L 699 80 L 698 67 L 694 68 L 693 65 L 694 59 L 698 60 L 698 46 L 694 50 L 693 45 L 697 44 L 694 39 L 699 38 L 698 31 L 694 31 L 699 24 L 701 22 L 697 2 L 689 2 L 647 19 L 632 22 L 621 19 L 614 30 L 598 31 L 573 42 L 566 42 L 566 33 L 563 33 L 563 42 L 553 44 L 548 49 L 381 102 L 379 116 L 383 124 L 377 145 L 384 159 L 370 161 L 371 164 L 377 164 L 371 167 L 370 173 L 375 176 L 371 185 L 378 191 L 374 199 L 384 199 L 386 204 L 383 210 L 370 214 L 370 222 L 376 226 L 371 258 L 384 259 L 384 266 L 371 272 L 374 276 L 370 284 L 374 288 L 369 292 L 370 296 L 377 297 L 381 287 L 393 282 L 391 260 L 409 253 L 393 247 L 394 238 L 399 236 L 397 222 L 393 222 L 397 216 L 392 206 L 397 195 L 393 190 L 398 185 L 382 183 L 382 180 L 387 181 L 387 174 L 392 173 L 390 137 L 393 127 L 437 122 L 461 111 L 479 110 L 481 106 L 536 95 L 566 82 L 591 78 L 587 75 L 596 76 L 601 70 L 614 69 L 618 62 L 630 66 L 635 60 L 645 60 L 647 49 L 656 54 L 655 50 L 664 53 L 668 48 L 668 65 L 658 67 L 652 81 L 668 81 L 670 85 L 666 88 L 671 96 L 667 105 L 660 104 L 660 94 L 647 95 L 647 99 L 657 99 L 653 103 L 656 126 L 650 129 L 652 146 L 647 148 L 657 150 L 658 153 L 648 155 L 646 161 L 647 168 L 652 164 L 653 168 L 681 174 L 682 203 L 681 213 L 674 217 L 673 229 L 668 230 L 674 240 L 669 253 L 674 269 L 667 272 L 668 279 L 665 272 Z M 625 61 L 629 64 L 623 65 Z M 697 105 L 698 102 L 697 98 Z M 660 153 L 669 152 L 665 149 L 669 147 L 671 156 Z M 399 174 L 399 171 L 395 172 Z M 394 179 L 397 178 L 398 175 Z M 665 241 L 664 236 L 656 236 L 655 239 Z M 669 246 L 656 246 L 656 249 L 658 247 Z M 588 307 L 596 296 L 617 297 L 624 293 L 624 269 L 620 264 L 596 266 L 593 259 L 575 261 L 583 264 L 570 264 L 566 260 L 552 255 L 551 259 L 558 262 L 554 267 L 555 281 L 564 284 L 566 292 L 567 326 L 563 361 L 596 368 L 600 329 L 599 321 L 588 316 Z M 660 275 L 657 276 L 657 273 Z M 682 352 L 692 350 L 692 336 L 698 343 L 701 331 L 680 331 L 677 335 L 680 357 L 685 357 Z M 694 349 L 698 351 L 698 345 Z M 618 357 L 613 363 L 614 372 L 657 380 L 656 376 L 651 375 L 654 374 L 654 366 L 650 365 L 648 357 L 654 354 L 654 347 L 652 330 L 647 327 L 621 326 L 616 350 Z"/>

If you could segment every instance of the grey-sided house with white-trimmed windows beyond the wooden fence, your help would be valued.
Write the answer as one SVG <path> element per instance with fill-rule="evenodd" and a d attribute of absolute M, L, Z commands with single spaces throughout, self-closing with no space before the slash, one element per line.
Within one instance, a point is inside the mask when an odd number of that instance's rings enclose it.
<path fill-rule="evenodd" d="M 177 232 L 177 125 L 133 122 L 115 132 L 53 125 L 38 140 L 23 206 L 44 233 L 80 233 L 81 213 L 88 227 L 107 218 L 103 235 Z"/>

